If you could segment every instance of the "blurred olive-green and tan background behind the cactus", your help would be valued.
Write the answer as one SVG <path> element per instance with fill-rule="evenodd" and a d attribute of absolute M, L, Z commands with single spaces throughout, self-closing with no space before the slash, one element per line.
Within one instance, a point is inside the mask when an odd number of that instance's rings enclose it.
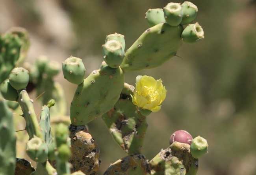
<path fill-rule="evenodd" d="M 61 63 L 70 55 L 83 59 L 87 75 L 102 62 L 108 34 L 125 35 L 127 48 L 148 28 L 148 8 L 169 0 L 0 0 L 0 33 L 26 28 L 31 48 L 27 61 L 39 55 Z M 173 2 L 180 2 L 173 0 Z M 126 74 L 161 78 L 167 98 L 160 112 L 148 116 L 143 153 L 150 160 L 169 146 L 178 129 L 208 140 L 209 153 L 199 161 L 198 175 L 256 175 L 256 1 L 191 0 L 205 39 L 183 44 L 162 66 Z M 76 87 L 62 74 L 67 109 Z M 39 106 L 37 107 L 39 111 Z M 69 110 L 68 110 L 69 111 Z M 126 154 L 112 140 L 101 118 L 89 123 L 101 152 L 102 174 Z"/>

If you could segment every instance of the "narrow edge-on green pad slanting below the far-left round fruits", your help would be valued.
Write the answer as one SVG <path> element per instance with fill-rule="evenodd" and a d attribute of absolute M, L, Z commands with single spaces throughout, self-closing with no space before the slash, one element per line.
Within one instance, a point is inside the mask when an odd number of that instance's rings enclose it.
<path fill-rule="evenodd" d="M 21 92 L 19 92 L 18 102 L 20 104 L 23 116 L 26 121 L 25 129 L 30 139 L 33 138 L 34 135 L 39 138 L 43 138 L 41 128 L 39 126 L 39 123 L 37 122 L 37 116 L 33 107 L 33 100 L 30 99 L 26 90 L 22 90 Z"/>

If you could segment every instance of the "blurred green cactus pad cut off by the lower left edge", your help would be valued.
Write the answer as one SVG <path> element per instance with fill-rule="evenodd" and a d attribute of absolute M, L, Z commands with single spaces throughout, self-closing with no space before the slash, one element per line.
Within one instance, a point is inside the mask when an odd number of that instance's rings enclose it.
<path fill-rule="evenodd" d="M 15 171 L 16 136 L 13 114 L 0 93 L 0 175 L 13 175 Z"/>

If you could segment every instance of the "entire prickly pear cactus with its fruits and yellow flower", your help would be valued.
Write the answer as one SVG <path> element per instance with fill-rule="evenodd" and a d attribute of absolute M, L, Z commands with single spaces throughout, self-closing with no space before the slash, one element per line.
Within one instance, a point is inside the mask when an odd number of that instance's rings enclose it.
<path fill-rule="evenodd" d="M 65 116 L 65 97 L 53 80 L 58 63 L 39 57 L 34 65 L 22 64 L 29 48 L 28 33 L 14 28 L 0 36 L 0 175 L 96 175 L 100 150 L 86 124 L 102 117 L 113 139 L 128 154 L 109 166 L 104 175 L 195 175 L 198 158 L 207 152 L 207 141 L 187 131 L 174 132 L 170 146 L 148 161 L 142 155 L 148 128 L 147 116 L 165 99 L 161 79 L 138 76 L 136 87 L 124 82 L 124 73 L 154 68 L 177 54 L 184 42 L 204 38 L 191 2 L 169 3 L 149 9 L 150 28 L 125 51 L 124 35 L 106 37 L 100 69 L 85 77 L 82 59 L 69 57 L 62 64 L 64 78 L 78 85 Z M 187 25 L 188 24 L 188 25 Z M 183 25 L 187 25 L 184 29 Z M 38 122 L 29 92 L 36 90 L 43 107 Z M 26 154 L 37 163 L 16 158 L 13 112 L 22 110 L 26 122 Z M 52 127 L 52 128 L 51 128 Z M 19 139 L 19 138 L 18 138 Z"/>

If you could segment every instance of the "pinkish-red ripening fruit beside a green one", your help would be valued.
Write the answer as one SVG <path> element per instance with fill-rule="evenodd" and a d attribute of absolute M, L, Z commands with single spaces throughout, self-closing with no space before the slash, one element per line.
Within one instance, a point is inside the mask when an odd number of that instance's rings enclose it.
<path fill-rule="evenodd" d="M 171 135 L 170 144 L 172 144 L 173 142 L 180 142 L 191 145 L 192 140 L 193 137 L 187 131 L 178 130 Z"/>

